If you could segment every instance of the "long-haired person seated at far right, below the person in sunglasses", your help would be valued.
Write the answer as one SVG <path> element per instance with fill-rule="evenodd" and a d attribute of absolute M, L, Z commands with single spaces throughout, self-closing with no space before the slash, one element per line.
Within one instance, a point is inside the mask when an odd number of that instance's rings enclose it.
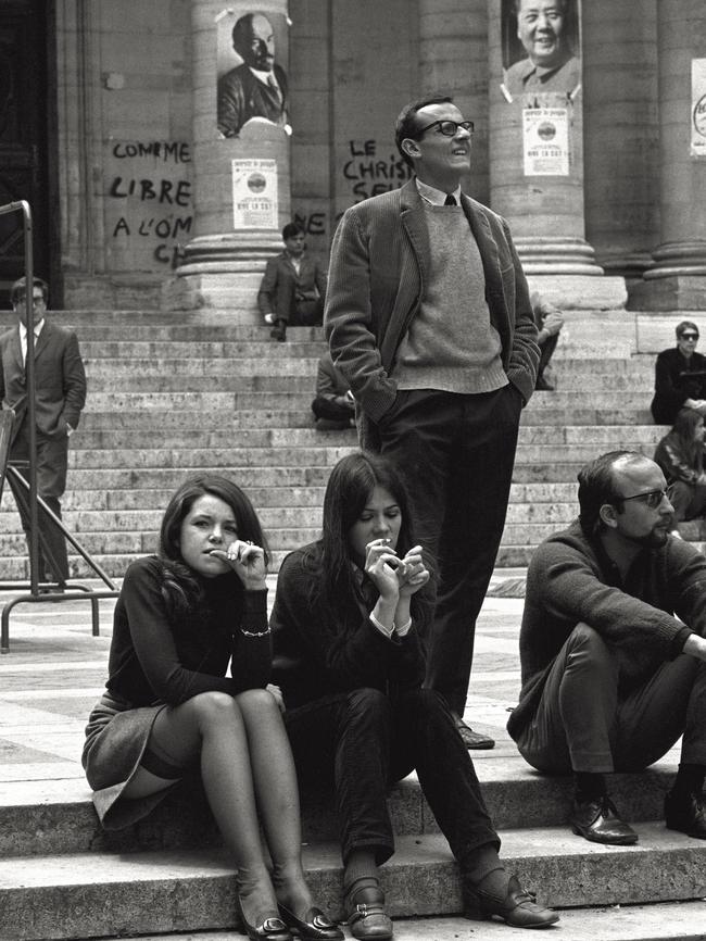
<path fill-rule="evenodd" d="M 673 427 L 657 444 L 655 462 L 669 485 L 669 501 L 675 507 L 673 536 L 679 524 L 706 512 L 704 473 L 704 417 L 693 409 L 680 409 Z"/>

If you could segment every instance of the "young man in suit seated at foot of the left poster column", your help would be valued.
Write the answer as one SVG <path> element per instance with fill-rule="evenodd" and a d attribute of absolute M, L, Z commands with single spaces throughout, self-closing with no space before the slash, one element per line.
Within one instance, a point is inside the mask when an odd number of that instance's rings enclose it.
<path fill-rule="evenodd" d="M 283 342 L 287 326 L 320 326 L 326 298 L 326 272 L 305 251 L 304 230 L 297 223 L 282 229 L 285 251 L 265 267 L 257 305 L 270 336 Z"/>

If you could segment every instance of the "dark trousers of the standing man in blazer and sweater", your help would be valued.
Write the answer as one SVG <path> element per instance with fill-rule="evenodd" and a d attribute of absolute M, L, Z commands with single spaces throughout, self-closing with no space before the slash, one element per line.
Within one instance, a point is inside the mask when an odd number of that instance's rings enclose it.
<path fill-rule="evenodd" d="M 380 450 L 407 484 L 416 538 L 436 560 L 426 686 L 458 715 L 505 525 L 521 404 L 512 385 L 477 396 L 400 391 L 379 426 Z"/>

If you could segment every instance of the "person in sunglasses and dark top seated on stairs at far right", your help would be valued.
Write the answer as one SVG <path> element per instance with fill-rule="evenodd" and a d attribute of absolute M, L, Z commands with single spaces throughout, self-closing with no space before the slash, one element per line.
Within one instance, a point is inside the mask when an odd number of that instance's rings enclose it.
<path fill-rule="evenodd" d="M 650 406 L 655 425 L 673 425 L 686 406 L 706 415 L 706 356 L 696 352 L 698 327 L 677 325 L 677 346 L 663 350 L 655 363 L 655 394 Z"/>

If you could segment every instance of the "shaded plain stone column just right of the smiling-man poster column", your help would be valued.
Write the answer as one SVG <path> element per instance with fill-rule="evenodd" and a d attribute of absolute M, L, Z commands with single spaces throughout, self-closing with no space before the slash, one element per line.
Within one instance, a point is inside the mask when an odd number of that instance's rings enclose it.
<path fill-rule="evenodd" d="M 590 0 L 582 37 L 587 237 L 606 272 L 641 277 L 659 240 L 657 2 Z"/>

